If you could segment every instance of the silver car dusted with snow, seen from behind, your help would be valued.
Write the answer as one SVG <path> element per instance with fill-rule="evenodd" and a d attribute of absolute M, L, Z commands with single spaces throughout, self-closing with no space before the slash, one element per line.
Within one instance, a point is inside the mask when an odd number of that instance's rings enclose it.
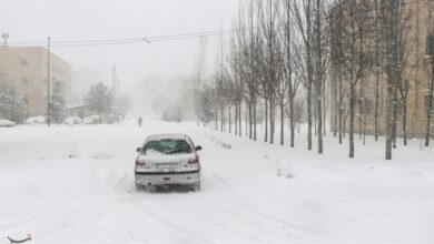
<path fill-rule="evenodd" d="M 186 134 L 149 135 L 137 149 L 136 190 L 150 185 L 186 185 L 200 191 L 201 146 Z"/>

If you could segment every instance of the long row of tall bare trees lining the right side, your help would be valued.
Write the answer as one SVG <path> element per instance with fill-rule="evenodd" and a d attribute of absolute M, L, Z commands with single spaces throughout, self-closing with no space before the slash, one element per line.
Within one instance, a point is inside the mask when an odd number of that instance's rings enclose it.
<path fill-rule="evenodd" d="M 196 69 L 197 118 L 216 130 L 228 124 L 229 132 L 234 128 L 241 135 L 244 115 L 251 140 L 258 139 L 257 126 L 264 121 L 264 141 L 269 143 L 275 143 L 280 125 L 280 144 L 288 123 L 290 146 L 295 146 L 297 125 L 305 121 L 307 149 L 313 149 L 315 134 L 317 151 L 323 153 L 329 108 L 334 136 L 343 143 L 348 133 L 348 155 L 354 157 L 356 122 L 361 139 L 369 119 L 375 139 L 379 135 L 379 87 L 385 80 L 389 160 L 400 104 L 407 143 L 406 102 L 421 62 L 408 61 L 415 39 L 413 14 L 411 4 L 396 0 L 248 0 L 239 9 L 229 51 L 224 54 L 221 48 L 214 75 L 204 79 L 201 69 Z M 368 79 L 375 81 L 373 92 Z"/>

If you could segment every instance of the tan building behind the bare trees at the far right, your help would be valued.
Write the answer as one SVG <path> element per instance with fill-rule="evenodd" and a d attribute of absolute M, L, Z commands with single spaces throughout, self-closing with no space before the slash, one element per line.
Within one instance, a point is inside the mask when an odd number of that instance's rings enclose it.
<path fill-rule="evenodd" d="M 410 42 L 406 45 L 406 65 L 402 72 L 402 81 L 407 84 L 406 94 L 403 95 L 400 89 L 396 92 L 396 131 L 397 136 L 405 134 L 408 138 L 424 138 L 427 128 L 427 111 L 430 101 L 430 90 L 432 85 L 432 62 L 434 57 L 427 55 L 426 40 L 428 35 L 434 34 L 434 0 L 417 0 L 402 1 L 401 8 L 404 11 L 411 11 L 411 14 L 405 14 L 408 18 L 410 29 L 407 35 Z M 372 11 L 375 12 L 375 11 Z M 345 24 L 345 23 L 344 23 Z M 373 43 L 373 41 L 366 41 Z M 384 44 L 384 43 L 382 43 Z M 365 47 L 365 50 L 372 47 Z M 381 47 L 385 51 L 384 45 Z M 384 61 L 385 62 L 385 61 Z M 336 67 L 331 69 L 331 85 L 337 85 L 333 80 L 336 80 Z M 376 101 L 376 81 L 377 75 L 374 69 L 367 70 L 364 77 L 356 85 L 356 116 L 355 116 L 355 133 L 375 133 L 375 101 Z M 345 87 L 345 85 L 344 85 Z M 335 87 L 336 88 L 336 87 Z M 334 98 L 336 89 L 331 87 L 331 126 L 335 130 L 338 124 L 338 105 Z M 346 87 L 346 90 L 348 88 Z M 348 92 L 343 98 L 341 110 L 343 111 L 343 130 L 348 131 Z M 377 133 L 385 134 L 386 130 L 386 99 L 387 99 L 387 80 L 385 68 L 378 75 L 378 109 L 377 109 Z M 362 94 L 362 95 L 361 95 Z M 403 99 L 404 98 L 404 99 Z M 404 111 L 405 110 L 405 111 Z M 431 128 L 434 128 L 434 110 L 431 111 Z M 405 115 L 405 116 L 404 116 Z M 433 131 L 433 129 L 431 129 Z"/>

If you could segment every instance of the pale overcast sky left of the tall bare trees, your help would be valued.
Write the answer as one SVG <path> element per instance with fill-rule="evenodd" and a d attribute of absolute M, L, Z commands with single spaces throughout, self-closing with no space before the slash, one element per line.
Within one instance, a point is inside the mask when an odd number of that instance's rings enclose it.
<path fill-rule="evenodd" d="M 230 29 L 238 0 L 1 0 L 0 32 L 10 42 L 118 39 Z M 208 41 L 215 59 L 218 37 Z M 217 41 L 217 42 L 216 42 Z M 53 48 L 75 70 L 95 69 L 109 78 L 116 63 L 119 79 L 190 73 L 199 40 L 110 47 Z"/>

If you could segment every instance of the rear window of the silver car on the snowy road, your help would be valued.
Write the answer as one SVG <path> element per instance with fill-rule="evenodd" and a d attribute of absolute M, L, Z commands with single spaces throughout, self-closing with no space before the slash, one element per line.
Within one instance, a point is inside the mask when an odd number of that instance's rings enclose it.
<path fill-rule="evenodd" d="M 185 140 L 149 141 L 144 148 L 144 154 L 148 153 L 191 153 L 191 148 Z"/>

